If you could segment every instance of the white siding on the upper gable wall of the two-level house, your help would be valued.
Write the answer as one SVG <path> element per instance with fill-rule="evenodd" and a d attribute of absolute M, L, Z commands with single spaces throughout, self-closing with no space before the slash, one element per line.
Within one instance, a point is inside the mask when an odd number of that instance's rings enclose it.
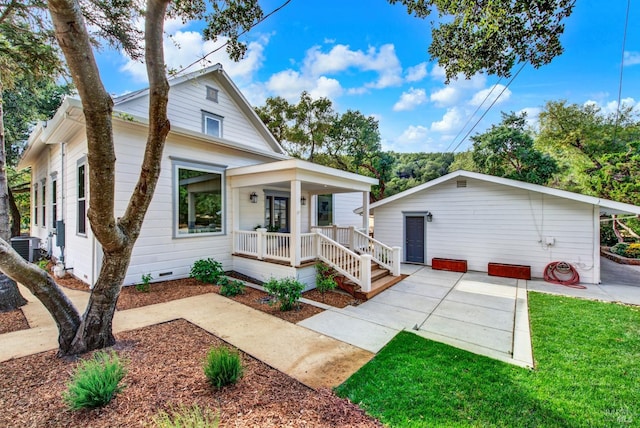
<path fill-rule="evenodd" d="M 218 89 L 217 103 L 206 99 L 207 86 Z M 148 108 L 148 95 L 123 101 L 116 106 L 119 111 L 139 117 L 147 117 Z M 239 141 L 259 150 L 273 150 L 242 113 L 238 104 L 222 88 L 215 73 L 182 82 L 171 88 L 167 115 L 173 127 L 202 133 L 202 111 L 223 118 L 222 138 L 224 140 Z"/>

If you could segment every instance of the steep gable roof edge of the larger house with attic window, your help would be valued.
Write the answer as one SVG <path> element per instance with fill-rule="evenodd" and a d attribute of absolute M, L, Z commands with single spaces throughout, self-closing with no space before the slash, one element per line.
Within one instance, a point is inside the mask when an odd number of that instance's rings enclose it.
<path fill-rule="evenodd" d="M 278 154 L 285 154 L 286 151 L 280 145 L 278 140 L 273 136 L 269 128 L 262 122 L 262 119 L 255 112 L 249 101 L 244 97 L 240 89 L 233 83 L 229 75 L 224 71 L 221 64 L 215 64 L 211 67 L 203 68 L 201 70 L 196 70 L 191 73 L 183 74 L 178 77 L 173 77 L 169 79 L 169 86 L 174 87 L 180 85 L 182 83 L 188 82 L 190 80 L 199 79 L 201 77 L 207 75 L 215 75 L 215 78 L 220 85 L 224 88 L 224 90 L 229 94 L 231 99 L 238 105 L 240 111 L 245 115 L 245 117 L 249 120 L 249 122 L 254 126 L 257 132 L 260 134 L 262 138 L 266 141 L 266 143 L 271 147 L 273 151 Z M 125 95 L 121 95 L 119 97 L 115 97 L 113 99 L 114 103 L 114 112 L 118 110 L 118 106 L 124 106 L 129 101 L 136 100 L 138 98 L 149 95 L 149 88 L 140 89 L 135 92 L 130 92 Z M 169 95 L 171 96 L 171 95 Z"/>

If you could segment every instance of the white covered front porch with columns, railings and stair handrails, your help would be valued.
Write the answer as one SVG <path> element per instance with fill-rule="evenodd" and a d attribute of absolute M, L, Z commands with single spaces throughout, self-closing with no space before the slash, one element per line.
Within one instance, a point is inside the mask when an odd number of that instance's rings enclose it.
<path fill-rule="evenodd" d="M 262 278 L 295 272 L 312 286 L 313 262 L 322 261 L 364 291 L 371 290 L 372 262 L 400 275 L 400 249 L 369 237 L 369 193 L 376 179 L 299 159 L 229 169 L 227 179 L 233 254 L 244 259 L 237 263 L 244 270 L 259 271 Z M 337 200 L 351 206 L 337 210 Z M 333 210 L 327 219 L 329 202 Z M 359 207 L 360 217 L 353 214 Z M 341 218 L 338 211 L 351 216 Z"/>

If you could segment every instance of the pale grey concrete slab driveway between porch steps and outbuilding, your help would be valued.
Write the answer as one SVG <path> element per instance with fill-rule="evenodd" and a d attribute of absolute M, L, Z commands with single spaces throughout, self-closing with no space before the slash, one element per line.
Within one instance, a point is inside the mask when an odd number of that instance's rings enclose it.
<path fill-rule="evenodd" d="M 299 325 L 378 352 L 399 331 L 532 366 L 526 281 L 403 266 L 409 277 L 359 306 L 329 309 Z"/>

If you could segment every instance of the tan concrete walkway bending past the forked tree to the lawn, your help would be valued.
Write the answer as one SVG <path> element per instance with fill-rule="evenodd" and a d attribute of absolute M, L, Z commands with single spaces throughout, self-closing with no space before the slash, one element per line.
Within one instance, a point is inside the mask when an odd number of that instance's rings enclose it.
<path fill-rule="evenodd" d="M 32 327 L 0 335 L 0 362 L 58 348 L 53 318 L 25 288 L 23 312 Z M 88 293 L 65 289 L 78 308 Z M 340 385 L 373 353 L 301 328 L 218 294 L 118 311 L 114 333 L 184 318 L 311 388 Z M 284 352 L 286 350 L 286 352 Z"/>

